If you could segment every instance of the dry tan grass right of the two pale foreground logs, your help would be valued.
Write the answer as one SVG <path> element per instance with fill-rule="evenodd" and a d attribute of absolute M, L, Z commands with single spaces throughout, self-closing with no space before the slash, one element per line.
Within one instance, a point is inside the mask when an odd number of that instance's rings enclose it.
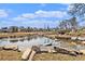
<path fill-rule="evenodd" d="M 85 61 L 85 55 L 72 56 L 61 53 L 41 53 L 36 54 L 34 61 Z"/>

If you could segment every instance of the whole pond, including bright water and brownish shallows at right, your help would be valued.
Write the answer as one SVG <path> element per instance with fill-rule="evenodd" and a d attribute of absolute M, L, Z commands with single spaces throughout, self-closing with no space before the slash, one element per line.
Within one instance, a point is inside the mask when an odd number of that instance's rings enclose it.
<path fill-rule="evenodd" d="M 5 38 L 5 39 L 0 39 L 0 46 L 11 46 L 11 44 L 16 44 L 18 46 L 19 49 L 26 49 L 26 48 L 31 48 L 32 46 L 43 46 L 46 47 L 48 44 L 52 44 L 51 47 L 61 47 L 61 48 L 68 48 L 68 49 L 74 49 L 74 50 L 80 50 L 80 49 L 85 49 L 85 46 L 76 44 L 72 46 L 68 41 L 63 40 L 52 40 L 46 37 L 22 37 L 22 38 Z"/>

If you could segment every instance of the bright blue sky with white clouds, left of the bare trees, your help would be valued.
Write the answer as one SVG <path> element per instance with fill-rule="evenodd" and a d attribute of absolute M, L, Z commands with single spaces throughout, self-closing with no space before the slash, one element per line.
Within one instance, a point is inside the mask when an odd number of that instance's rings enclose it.
<path fill-rule="evenodd" d="M 0 3 L 0 27 L 56 27 L 70 17 L 69 7 L 65 3 Z"/>

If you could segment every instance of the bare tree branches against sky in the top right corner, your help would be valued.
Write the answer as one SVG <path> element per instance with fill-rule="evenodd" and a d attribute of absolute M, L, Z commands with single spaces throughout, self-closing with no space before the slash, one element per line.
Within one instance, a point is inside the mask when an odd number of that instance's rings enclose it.
<path fill-rule="evenodd" d="M 85 3 L 72 3 L 70 4 L 69 14 L 73 16 L 85 15 Z"/>

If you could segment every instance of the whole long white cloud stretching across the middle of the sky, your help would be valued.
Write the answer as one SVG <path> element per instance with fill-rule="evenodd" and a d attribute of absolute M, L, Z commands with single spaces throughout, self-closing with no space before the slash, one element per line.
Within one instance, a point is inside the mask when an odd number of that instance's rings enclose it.
<path fill-rule="evenodd" d="M 14 17 L 14 21 L 22 21 L 22 20 L 32 20 L 32 18 L 40 18 L 40 17 L 57 17 L 57 18 L 62 18 L 68 16 L 67 12 L 65 11 L 36 11 L 34 13 L 24 13 L 17 17 Z"/>

